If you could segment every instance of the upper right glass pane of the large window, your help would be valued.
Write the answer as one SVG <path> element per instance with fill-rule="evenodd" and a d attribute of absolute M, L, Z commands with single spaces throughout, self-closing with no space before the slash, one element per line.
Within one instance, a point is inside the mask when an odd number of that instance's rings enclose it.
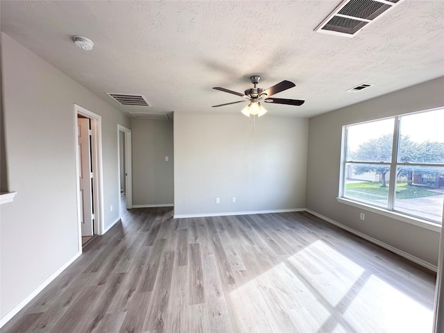
<path fill-rule="evenodd" d="M 444 163 L 444 110 L 401 117 L 398 162 Z"/>

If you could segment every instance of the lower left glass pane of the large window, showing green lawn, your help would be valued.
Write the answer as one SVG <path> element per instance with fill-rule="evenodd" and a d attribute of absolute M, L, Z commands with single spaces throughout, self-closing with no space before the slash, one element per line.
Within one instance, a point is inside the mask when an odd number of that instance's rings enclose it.
<path fill-rule="evenodd" d="M 347 163 L 344 196 L 386 208 L 389 178 L 389 165 Z"/>

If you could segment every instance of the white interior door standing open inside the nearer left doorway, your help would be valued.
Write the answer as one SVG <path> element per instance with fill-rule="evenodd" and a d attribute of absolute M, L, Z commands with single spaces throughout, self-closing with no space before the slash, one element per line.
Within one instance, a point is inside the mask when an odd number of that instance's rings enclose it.
<path fill-rule="evenodd" d="M 92 171 L 89 119 L 78 118 L 78 182 L 80 188 L 80 225 L 82 236 L 92 236 Z"/>

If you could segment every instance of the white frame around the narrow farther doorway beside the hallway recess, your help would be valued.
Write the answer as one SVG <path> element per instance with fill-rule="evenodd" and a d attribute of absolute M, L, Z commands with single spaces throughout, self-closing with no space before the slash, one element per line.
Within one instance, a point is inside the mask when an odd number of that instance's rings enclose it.
<path fill-rule="evenodd" d="M 117 124 L 117 176 L 119 176 L 119 193 L 120 185 L 120 133 L 125 135 L 125 189 L 126 189 L 126 209 L 133 208 L 133 155 L 131 151 L 131 130 L 120 124 Z M 120 195 L 120 194 L 119 194 Z M 119 212 L 120 212 L 120 197 L 119 197 Z"/>

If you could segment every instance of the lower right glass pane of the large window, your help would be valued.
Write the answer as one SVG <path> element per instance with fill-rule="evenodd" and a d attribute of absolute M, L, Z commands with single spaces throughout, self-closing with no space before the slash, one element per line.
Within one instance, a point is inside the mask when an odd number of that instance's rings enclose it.
<path fill-rule="evenodd" d="M 394 209 L 441 223 L 444 167 L 399 166 Z"/>

